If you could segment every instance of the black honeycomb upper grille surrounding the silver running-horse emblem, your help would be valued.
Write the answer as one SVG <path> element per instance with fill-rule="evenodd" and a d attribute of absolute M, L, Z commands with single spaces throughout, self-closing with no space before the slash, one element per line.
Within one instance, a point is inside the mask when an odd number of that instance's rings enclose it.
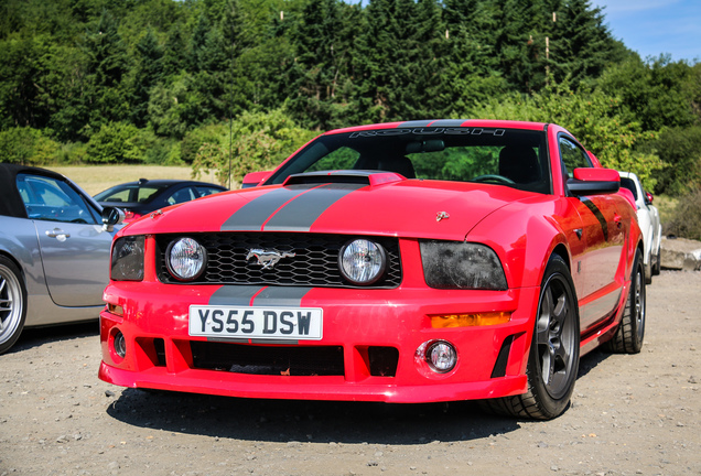
<path fill-rule="evenodd" d="M 207 268 L 195 281 L 207 284 L 311 285 L 326 288 L 359 288 L 343 279 L 338 270 L 338 252 L 352 239 L 368 238 L 380 244 L 387 252 L 387 270 L 374 289 L 397 288 L 401 283 L 399 241 L 391 237 L 357 237 L 291 232 L 217 232 L 187 235 L 207 250 Z M 165 266 L 165 250 L 182 235 L 159 235 L 159 280 L 179 283 Z M 263 270 L 256 259 L 246 260 L 249 250 L 261 248 L 293 252 L 272 269 Z"/>

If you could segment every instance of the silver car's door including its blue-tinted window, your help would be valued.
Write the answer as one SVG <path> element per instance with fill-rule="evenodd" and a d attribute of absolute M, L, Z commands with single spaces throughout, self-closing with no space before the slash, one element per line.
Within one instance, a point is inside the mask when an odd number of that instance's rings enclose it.
<path fill-rule="evenodd" d="M 114 232 L 103 229 L 98 210 L 66 182 L 29 173 L 18 174 L 17 181 L 36 229 L 52 301 L 69 307 L 101 305 Z"/>

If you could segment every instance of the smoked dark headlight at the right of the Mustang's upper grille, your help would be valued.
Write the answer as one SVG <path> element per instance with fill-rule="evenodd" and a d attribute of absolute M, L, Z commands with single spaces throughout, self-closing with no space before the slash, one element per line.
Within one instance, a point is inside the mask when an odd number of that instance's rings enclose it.
<path fill-rule="evenodd" d="M 507 289 L 504 268 L 487 246 L 462 241 L 421 241 L 423 275 L 435 289 Z"/>

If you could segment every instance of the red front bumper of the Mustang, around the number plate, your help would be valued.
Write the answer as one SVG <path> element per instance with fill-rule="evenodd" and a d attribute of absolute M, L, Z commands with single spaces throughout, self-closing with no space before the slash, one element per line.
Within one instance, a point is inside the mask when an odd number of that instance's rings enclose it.
<path fill-rule="evenodd" d="M 323 338 L 292 344 L 208 342 L 188 335 L 188 307 L 211 303 L 219 285 L 112 282 L 100 314 L 103 363 L 99 378 L 132 388 L 153 388 L 248 398 L 358 400 L 398 403 L 485 399 L 524 393 L 539 289 L 441 291 L 428 288 L 348 290 L 313 288 L 300 305 L 323 309 Z M 251 305 L 270 305 L 251 301 Z M 508 311 L 506 324 L 433 328 L 431 315 Z M 114 348 L 125 336 L 126 356 Z M 417 358 L 427 342 L 442 339 L 457 351 L 446 374 Z M 326 358 L 337 349 L 335 375 L 241 372 L 241 366 L 202 365 L 198 354 L 296 353 Z M 255 347 L 255 348 L 254 348 Z M 396 349 L 392 371 L 373 361 L 373 349 Z M 255 350 L 255 351 L 254 351 Z M 376 354 L 375 354 L 376 355 Z M 382 354 L 386 356 L 387 354 Z M 225 359 L 222 357 L 222 359 Z M 378 370 L 378 367 L 380 368 Z"/>

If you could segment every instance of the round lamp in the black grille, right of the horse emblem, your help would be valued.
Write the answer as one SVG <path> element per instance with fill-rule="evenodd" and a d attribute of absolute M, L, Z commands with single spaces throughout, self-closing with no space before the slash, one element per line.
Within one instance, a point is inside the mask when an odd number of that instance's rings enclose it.
<path fill-rule="evenodd" d="M 347 242 L 338 255 L 343 277 L 354 284 L 373 284 L 382 277 L 386 266 L 385 249 L 367 239 Z"/>

